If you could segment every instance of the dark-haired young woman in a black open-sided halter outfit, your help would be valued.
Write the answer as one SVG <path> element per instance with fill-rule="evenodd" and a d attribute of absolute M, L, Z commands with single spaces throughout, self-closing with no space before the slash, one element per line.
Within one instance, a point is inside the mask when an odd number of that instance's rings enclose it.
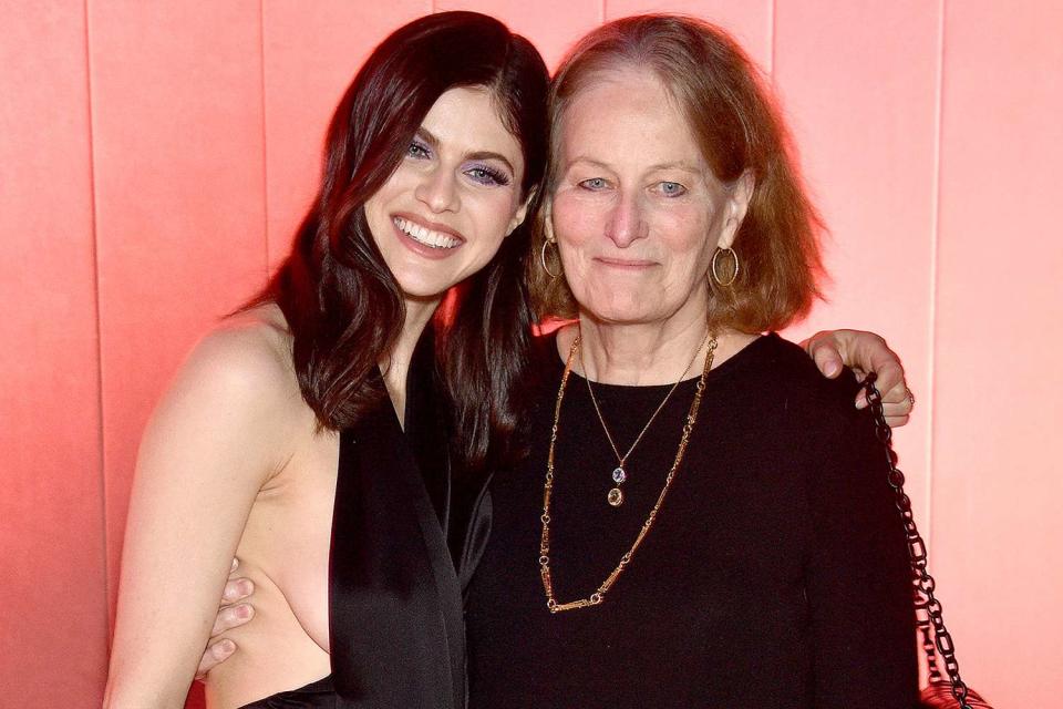
<path fill-rule="evenodd" d="M 525 39 L 469 12 L 398 30 L 354 78 L 291 255 L 145 433 L 107 707 L 184 705 L 234 554 L 258 621 L 211 672 L 210 707 L 302 686 L 312 706 L 463 703 L 448 461 L 509 456 L 547 82 Z"/>

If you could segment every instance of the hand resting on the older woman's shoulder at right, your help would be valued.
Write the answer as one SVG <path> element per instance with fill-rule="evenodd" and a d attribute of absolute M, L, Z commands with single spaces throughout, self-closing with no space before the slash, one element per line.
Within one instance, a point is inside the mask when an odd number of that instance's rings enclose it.
<path fill-rule="evenodd" d="M 867 372 L 878 374 L 876 386 L 883 392 L 886 422 L 896 428 L 908 423 L 916 398 L 905 381 L 900 358 L 889 349 L 886 340 L 874 332 L 861 330 L 824 330 L 802 342 L 808 357 L 815 360 L 824 377 L 834 379 L 847 366 L 864 379 Z M 867 407 L 864 391 L 856 398 L 856 408 Z"/>

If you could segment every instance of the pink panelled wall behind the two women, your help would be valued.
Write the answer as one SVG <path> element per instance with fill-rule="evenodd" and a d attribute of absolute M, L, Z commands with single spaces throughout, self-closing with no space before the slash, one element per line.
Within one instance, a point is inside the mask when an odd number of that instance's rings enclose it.
<path fill-rule="evenodd" d="M 456 8 L 551 65 L 639 11 L 741 39 L 832 228 L 832 301 L 792 335 L 874 329 L 904 354 L 901 466 L 964 677 L 1059 706 L 1053 0 L 0 0 L 0 705 L 99 703 L 153 402 L 282 258 L 367 53 Z"/>

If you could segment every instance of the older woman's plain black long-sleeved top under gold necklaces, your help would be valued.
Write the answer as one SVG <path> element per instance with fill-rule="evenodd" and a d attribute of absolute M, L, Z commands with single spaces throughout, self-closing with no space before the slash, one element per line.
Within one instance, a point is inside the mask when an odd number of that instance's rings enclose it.
<path fill-rule="evenodd" d="M 850 374 L 829 381 L 777 336 L 713 370 L 657 522 L 600 606 L 551 615 L 539 577 L 543 484 L 563 371 L 553 339 L 526 429 L 492 482 L 466 623 L 471 707 L 912 707 L 912 596 L 899 514 Z M 606 500 L 617 461 L 569 379 L 551 502 L 559 603 L 589 596 L 652 507 L 696 380 L 680 384 Z M 668 387 L 596 384 L 621 449 Z"/>

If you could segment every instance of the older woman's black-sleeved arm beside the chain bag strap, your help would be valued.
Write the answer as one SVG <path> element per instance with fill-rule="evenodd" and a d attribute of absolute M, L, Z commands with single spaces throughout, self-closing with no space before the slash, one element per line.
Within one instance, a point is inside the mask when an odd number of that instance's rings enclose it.
<path fill-rule="evenodd" d="M 839 389 L 845 402 L 852 387 Z M 911 573 L 886 454 L 870 412 L 838 401 L 833 409 L 839 415 L 819 422 L 830 433 L 809 476 L 813 703 L 910 709 L 918 693 Z"/>

